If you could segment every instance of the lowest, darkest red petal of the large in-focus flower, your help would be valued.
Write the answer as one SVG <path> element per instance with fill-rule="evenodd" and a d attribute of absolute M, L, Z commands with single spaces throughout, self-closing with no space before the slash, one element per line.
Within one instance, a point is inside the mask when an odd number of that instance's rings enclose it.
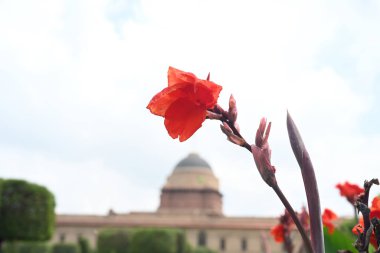
<path fill-rule="evenodd" d="M 179 141 L 190 138 L 206 119 L 206 109 L 188 99 L 178 99 L 165 114 L 165 127 L 169 135 Z"/>

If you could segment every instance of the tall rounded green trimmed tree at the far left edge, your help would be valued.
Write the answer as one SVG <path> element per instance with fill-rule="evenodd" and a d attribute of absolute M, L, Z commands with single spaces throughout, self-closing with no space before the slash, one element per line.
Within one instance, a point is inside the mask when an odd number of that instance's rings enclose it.
<path fill-rule="evenodd" d="M 43 186 L 0 180 L 0 251 L 4 241 L 44 241 L 54 231 L 55 201 Z"/>

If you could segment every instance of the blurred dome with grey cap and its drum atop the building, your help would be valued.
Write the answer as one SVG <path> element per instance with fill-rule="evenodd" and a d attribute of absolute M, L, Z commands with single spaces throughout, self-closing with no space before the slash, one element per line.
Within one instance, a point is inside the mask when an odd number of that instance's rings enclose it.
<path fill-rule="evenodd" d="M 219 180 L 198 154 L 182 159 L 161 191 L 159 212 L 222 214 Z"/>

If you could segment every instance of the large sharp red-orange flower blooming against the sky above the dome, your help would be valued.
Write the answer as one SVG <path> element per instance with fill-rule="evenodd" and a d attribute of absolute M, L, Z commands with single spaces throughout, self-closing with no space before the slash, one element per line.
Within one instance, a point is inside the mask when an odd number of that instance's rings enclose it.
<path fill-rule="evenodd" d="M 165 118 L 169 135 L 179 141 L 190 138 L 206 119 L 207 109 L 217 103 L 222 87 L 173 67 L 168 70 L 168 87 L 155 95 L 147 108 Z"/>

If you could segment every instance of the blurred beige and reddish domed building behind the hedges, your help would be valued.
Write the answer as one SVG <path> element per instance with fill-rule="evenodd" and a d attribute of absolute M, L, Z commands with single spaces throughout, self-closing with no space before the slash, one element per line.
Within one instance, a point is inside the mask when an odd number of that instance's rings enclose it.
<path fill-rule="evenodd" d="M 277 218 L 223 215 L 219 180 L 211 166 L 195 153 L 174 167 L 160 198 L 155 212 L 122 214 L 111 210 L 104 216 L 57 215 L 52 242 L 76 242 L 85 237 L 94 247 L 98 231 L 104 228 L 177 228 L 185 231 L 192 246 L 206 246 L 217 252 L 263 252 L 263 236 L 272 252 L 281 252 L 281 246 L 269 236 Z"/>

